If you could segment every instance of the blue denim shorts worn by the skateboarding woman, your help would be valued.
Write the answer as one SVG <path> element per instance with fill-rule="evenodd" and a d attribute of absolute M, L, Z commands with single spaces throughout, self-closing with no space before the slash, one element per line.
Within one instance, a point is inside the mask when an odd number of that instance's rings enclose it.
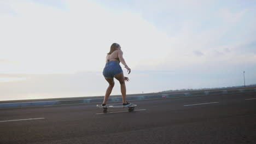
<path fill-rule="evenodd" d="M 123 70 L 119 62 L 109 61 L 104 67 L 103 76 L 106 78 L 114 78 L 116 74 L 120 74 L 122 72 Z"/>

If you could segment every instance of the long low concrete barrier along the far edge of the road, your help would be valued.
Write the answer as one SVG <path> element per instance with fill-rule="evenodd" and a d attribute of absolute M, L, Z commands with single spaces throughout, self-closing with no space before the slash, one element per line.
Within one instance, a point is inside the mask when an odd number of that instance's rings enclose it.
<path fill-rule="evenodd" d="M 256 88 L 254 88 L 254 89 L 236 89 L 236 90 L 210 91 L 210 92 L 141 95 L 141 96 L 127 97 L 126 99 L 127 100 L 143 100 L 143 99 L 193 97 L 193 96 L 200 96 L 200 95 L 233 94 L 233 93 L 246 93 L 246 92 L 256 92 Z M 0 109 L 1 108 L 10 108 L 10 107 L 33 107 L 33 106 L 50 106 L 50 105 L 102 103 L 102 101 L 103 101 L 103 98 L 3 103 L 3 104 L 0 104 Z M 121 97 L 108 98 L 108 101 L 122 101 L 122 98 Z"/>

